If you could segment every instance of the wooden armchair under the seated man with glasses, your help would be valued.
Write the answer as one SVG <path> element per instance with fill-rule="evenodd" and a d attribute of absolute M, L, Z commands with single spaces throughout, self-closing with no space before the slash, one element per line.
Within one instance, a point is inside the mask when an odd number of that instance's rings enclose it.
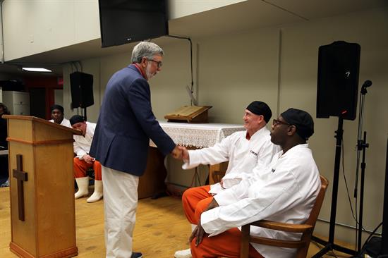
<path fill-rule="evenodd" d="M 308 220 L 304 224 L 290 224 L 290 223 L 281 223 L 274 221 L 255 221 L 253 223 L 244 225 L 241 227 L 241 250 L 240 257 L 248 258 L 249 255 L 249 242 L 254 242 L 261 245 L 272 245 L 276 247 L 288 247 L 288 248 L 296 248 L 296 258 L 304 258 L 307 255 L 308 247 L 310 245 L 311 236 L 313 235 L 315 222 L 318 219 L 318 214 L 320 214 L 320 209 L 322 207 L 322 202 L 325 197 L 325 192 L 327 189 L 327 185 L 329 181 L 320 176 L 322 186 L 320 192 L 317 195 L 317 199 L 315 201 L 314 207 L 311 210 L 310 216 Z M 291 241 L 291 240 L 277 240 L 272 238 L 262 238 L 251 236 L 250 234 L 250 226 L 259 226 L 262 228 L 269 228 L 277 231 L 286 231 L 286 232 L 294 232 L 294 233 L 302 233 L 301 240 Z"/>

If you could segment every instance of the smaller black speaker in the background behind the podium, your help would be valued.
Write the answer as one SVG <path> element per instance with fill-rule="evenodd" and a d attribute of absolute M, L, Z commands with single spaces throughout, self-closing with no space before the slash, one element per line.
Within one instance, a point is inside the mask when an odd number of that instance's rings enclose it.
<path fill-rule="evenodd" d="M 93 98 L 93 75 L 81 72 L 71 73 L 71 102 L 73 108 L 86 108 L 95 104 Z"/>

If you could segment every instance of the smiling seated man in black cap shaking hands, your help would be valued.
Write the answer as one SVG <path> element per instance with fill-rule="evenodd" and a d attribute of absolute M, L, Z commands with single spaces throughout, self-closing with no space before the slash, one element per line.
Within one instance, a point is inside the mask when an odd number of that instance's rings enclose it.
<path fill-rule="evenodd" d="M 245 131 L 236 132 L 226 137 L 213 147 L 183 151 L 183 169 L 194 168 L 199 164 L 219 164 L 229 161 L 226 175 L 221 183 L 189 188 L 183 193 L 182 202 L 192 231 L 198 223 L 196 219 L 203 209 L 212 202 L 212 196 L 225 188 L 231 187 L 241 180 L 241 172 L 253 171 L 259 164 L 267 165 L 272 156 L 279 152 L 279 147 L 272 144 L 267 122 L 271 119 L 272 111 L 264 102 L 252 102 L 243 116 Z M 191 257 L 190 249 L 177 251 L 176 258 Z"/>

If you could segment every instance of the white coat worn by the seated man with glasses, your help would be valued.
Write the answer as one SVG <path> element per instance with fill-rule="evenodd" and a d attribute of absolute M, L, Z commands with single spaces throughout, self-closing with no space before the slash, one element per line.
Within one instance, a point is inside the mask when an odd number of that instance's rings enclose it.
<path fill-rule="evenodd" d="M 210 236 L 229 228 L 267 219 L 305 223 L 320 190 L 320 174 L 307 144 L 279 152 L 267 167 L 214 196 L 219 207 L 202 213 L 201 225 Z M 298 240 L 298 233 L 251 227 L 251 235 Z M 295 249 L 252 244 L 264 257 L 293 257 Z"/>

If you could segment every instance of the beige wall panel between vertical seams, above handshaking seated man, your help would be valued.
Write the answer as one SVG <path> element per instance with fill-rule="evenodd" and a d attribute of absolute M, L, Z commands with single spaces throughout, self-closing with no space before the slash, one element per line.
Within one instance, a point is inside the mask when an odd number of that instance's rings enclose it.
<path fill-rule="evenodd" d="M 277 28 L 199 39 L 198 94 L 210 121 L 242 123 L 243 111 L 260 99 L 277 113 Z"/>

